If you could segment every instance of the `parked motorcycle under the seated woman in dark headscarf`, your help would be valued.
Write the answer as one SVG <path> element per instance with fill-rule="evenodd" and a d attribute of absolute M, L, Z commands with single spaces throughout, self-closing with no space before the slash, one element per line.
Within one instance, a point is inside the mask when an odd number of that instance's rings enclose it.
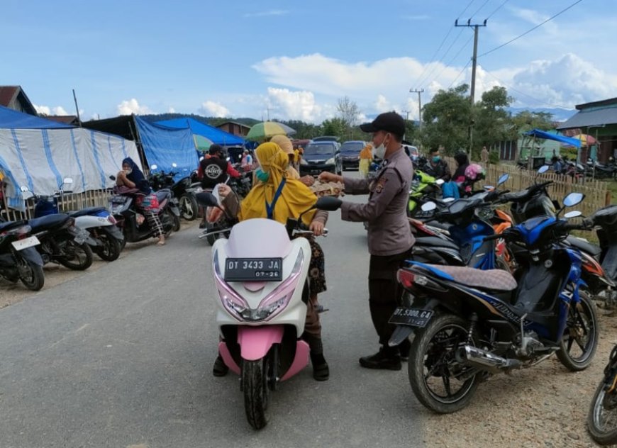
<path fill-rule="evenodd" d="M 110 176 L 111 180 L 116 177 Z M 172 192 L 169 189 L 155 191 L 159 203 L 158 217 L 160 219 L 163 235 L 169 237 L 172 232 L 179 228 L 180 211 L 176 203 L 172 201 Z M 154 237 L 150 223 L 138 210 L 135 200 L 140 195 L 138 189 L 126 187 L 114 187 L 113 196 L 109 199 L 109 211 L 116 218 L 118 228 L 124 235 L 124 242 L 138 242 Z"/>

